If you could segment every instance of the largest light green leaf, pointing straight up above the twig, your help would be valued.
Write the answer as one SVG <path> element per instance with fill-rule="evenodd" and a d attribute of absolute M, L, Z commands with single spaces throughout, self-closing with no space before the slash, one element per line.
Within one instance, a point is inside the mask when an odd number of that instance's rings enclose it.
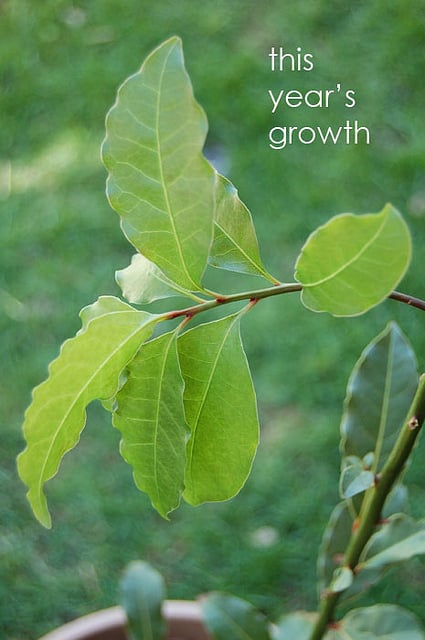
<path fill-rule="evenodd" d="M 106 121 L 107 193 L 130 242 L 168 278 L 198 290 L 213 235 L 215 172 L 207 120 L 181 41 L 170 38 L 118 91 Z"/>

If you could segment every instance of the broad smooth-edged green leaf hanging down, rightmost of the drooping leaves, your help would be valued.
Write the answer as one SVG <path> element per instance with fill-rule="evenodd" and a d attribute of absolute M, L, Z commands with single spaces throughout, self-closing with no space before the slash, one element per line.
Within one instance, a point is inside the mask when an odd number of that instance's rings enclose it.
<path fill-rule="evenodd" d="M 239 316 L 202 324 L 178 339 L 185 381 L 185 499 L 227 500 L 243 486 L 258 445 L 255 392 L 242 347 Z"/>

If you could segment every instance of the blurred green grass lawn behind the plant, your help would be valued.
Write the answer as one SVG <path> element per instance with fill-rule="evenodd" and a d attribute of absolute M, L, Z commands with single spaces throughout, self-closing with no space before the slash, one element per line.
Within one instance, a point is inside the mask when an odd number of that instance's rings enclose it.
<path fill-rule="evenodd" d="M 0 4 L 2 637 L 35 639 L 113 604 L 120 571 L 137 557 L 164 571 L 171 597 L 220 588 L 269 612 L 315 606 L 316 548 L 337 499 L 347 375 L 389 319 L 409 335 L 423 369 L 420 312 L 388 302 L 366 318 L 335 320 L 307 312 L 296 297 L 259 305 L 245 323 L 263 425 L 253 475 L 237 500 L 183 507 L 171 523 L 133 488 L 118 435 L 94 406 L 80 446 L 49 486 L 54 528 L 44 531 L 16 476 L 22 415 L 59 344 L 78 329 L 79 309 L 118 294 L 114 271 L 132 251 L 104 197 L 104 116 L 117 86 L 175 33 L 208 114 L 209 153 L 252 210 L 270 270 L 292 279 L 318 224 L 391 201 L 414 241 L 401 288 L 424 297 L 424 19 L 423 0 L 350 9 L 329 0 Z M 312 52 L 314 70 L 272 74 L 267 53 L 282 44 Z M 268 147 L 268 130 L 288 117 L 271 115 L 268 89 L 338 82 L 356 91 L 348 116 L 299 109 L 292 122 L 356 117 L 371 130 L 370 146 Z M 420 462 L 409 477 L 421 515 Z M 407 602 L 425 622 L 422 576 L 422 561 L 414 561 L 371 595 Z"/>

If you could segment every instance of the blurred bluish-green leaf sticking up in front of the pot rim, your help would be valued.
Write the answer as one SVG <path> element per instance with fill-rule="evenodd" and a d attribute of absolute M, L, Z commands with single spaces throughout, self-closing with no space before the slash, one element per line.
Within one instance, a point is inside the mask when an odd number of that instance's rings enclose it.
<path fill-rule="evenodd" d="M 129 640 L 165 638 L 167 625 L 161 608 L 166 594 L 161 574 L 146 562 L 132 562 L 125 570 L 120 587 Z"/>

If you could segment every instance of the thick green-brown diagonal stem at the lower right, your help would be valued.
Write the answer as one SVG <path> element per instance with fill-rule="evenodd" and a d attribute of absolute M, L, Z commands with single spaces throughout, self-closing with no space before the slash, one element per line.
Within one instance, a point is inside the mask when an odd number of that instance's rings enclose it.
<path fill-rule="evenodd" d="M 400 431 L 399 437 L 381 471 L 376 477 L 375 485 L 365 494 L 358 518 L 358 526 L 351 535 L 348 543 L 343 567 L 354 573 L 358 568 L 361 554 L 375 533 L 379 523 L 382 508 L 391 489 L 403 471 L 412 453 L 419 431 L 425 420 L 425 374 L 419 379 L 418 388 L 413 398 L 407 418 Z M 321 640 L 333 621 L 333 615 L 340 597 L 340 593 L 328 591 L 324 594 L 319 615 L 310 640 Z"/>

